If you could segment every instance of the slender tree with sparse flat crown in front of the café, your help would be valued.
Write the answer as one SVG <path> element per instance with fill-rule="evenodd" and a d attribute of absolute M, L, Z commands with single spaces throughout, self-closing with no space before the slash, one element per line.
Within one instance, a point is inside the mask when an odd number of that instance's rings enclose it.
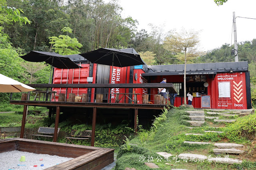
<path fill-rule="evenodd" d="M 199 32 L 194 30 L 185 30 L 181 32 L 172 32 L 164 41 L 164 48 L 176 53 L 184 52 L 184 104 L 186 105 L 186 63 L 188 55 L 197 51 L 196 46 L 199 44 Z"/>

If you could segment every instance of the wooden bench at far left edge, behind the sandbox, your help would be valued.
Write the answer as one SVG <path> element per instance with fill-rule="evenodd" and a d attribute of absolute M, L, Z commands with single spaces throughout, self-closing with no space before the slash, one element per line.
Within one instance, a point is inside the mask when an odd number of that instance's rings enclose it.
<path fill-rule="evenodd" d="M 0 139 L 2 137 L 5 137 L 6 136 L 20 136 L 20 130 L 21 130 L 21 127 L 0 127 Z M 28 132 L 26 132 L 24 134 L 24 136 L 27 136 L 28 135 Z"/>

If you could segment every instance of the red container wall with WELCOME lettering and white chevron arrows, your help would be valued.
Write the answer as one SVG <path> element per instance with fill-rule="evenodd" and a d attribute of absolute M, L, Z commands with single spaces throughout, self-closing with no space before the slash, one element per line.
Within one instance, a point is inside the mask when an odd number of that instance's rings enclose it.
<path fill-rule="evenodd" d="M 230 98 L 219 97 L 219 82 L 230 82 Z M 218 73 L 211 89 L 212 108 L 247 109 L 245 73 Z"/>

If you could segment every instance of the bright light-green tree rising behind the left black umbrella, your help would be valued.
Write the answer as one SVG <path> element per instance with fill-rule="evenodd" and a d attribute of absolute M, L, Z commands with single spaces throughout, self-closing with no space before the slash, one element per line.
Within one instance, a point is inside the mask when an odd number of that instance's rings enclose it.
<path fill-rule="evenodd" d="M 67 34 L 72 33 L 72 29 L 64 27 L 62 32 L 67 32 Z M 49 39 L 49 43 L 54 44 L 52 45 L 52 49 L 55 49 L 55 52 L 61 55 L 78 54 L 78 48 L 82 47 L 82 44 L 80 44 L 76 38 L 70 38 L 68 35 L 53 36 Z"/>

